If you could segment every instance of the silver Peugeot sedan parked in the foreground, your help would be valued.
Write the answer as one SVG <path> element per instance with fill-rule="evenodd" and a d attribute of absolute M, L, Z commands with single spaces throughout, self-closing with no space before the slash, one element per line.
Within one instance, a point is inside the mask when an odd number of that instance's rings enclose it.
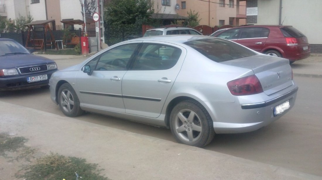
<path fill-rule="evenodd" d="M 215 133 L 257 130 L 294 106 L 289 61 L 199 35 L 143 37 L 52 74 L 50 94 L 69 117 L 84 111 L 169 127 L 203 147 Z"/>

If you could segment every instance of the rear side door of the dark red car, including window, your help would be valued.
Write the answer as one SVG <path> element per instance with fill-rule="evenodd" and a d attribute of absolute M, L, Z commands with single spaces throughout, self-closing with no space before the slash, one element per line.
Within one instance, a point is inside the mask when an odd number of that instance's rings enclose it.
<path fill-rule="evenodd" d="M 268 28 L 244 27 L 241 28 L 241 35 L 236 43 L 242 44 L 252 50 L 261 52 L 270 33 Z"/>

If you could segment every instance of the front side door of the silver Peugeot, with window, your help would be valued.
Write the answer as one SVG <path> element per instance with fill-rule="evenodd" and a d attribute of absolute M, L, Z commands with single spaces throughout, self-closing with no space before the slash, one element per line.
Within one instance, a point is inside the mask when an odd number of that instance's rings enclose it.
<path fill-rule="evenodd" d="M 139 43 L 120 45 L 95 57 L 86 65 L 90 75 L 79 71 L 76 85 L 82 106 L 125 112 L 122 99 L 122 78 Z"/>

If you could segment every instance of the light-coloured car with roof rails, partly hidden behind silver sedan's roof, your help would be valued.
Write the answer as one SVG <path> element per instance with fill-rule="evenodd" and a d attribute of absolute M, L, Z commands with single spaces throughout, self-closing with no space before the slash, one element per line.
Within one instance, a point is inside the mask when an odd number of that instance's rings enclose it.
<path fill-rule="evenodd" d="M 198 31 L 187 28 L 187 27 L 164 27 L 149 29 L 144 34 L 144 37 L 148 36 L 161 36 L 161 35 L 179 35 L 179 34 L 192 34 L 192 35 L 202 35 Z"/>

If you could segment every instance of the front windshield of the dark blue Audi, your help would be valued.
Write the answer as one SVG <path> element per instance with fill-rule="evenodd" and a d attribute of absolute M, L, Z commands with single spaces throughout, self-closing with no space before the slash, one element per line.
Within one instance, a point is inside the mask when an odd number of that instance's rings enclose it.
<path fill-rule="evenodd" d="M 16 41 L 0 41 L 0 56 L 14 54 L 30 54 L 30 52 Z"/>

